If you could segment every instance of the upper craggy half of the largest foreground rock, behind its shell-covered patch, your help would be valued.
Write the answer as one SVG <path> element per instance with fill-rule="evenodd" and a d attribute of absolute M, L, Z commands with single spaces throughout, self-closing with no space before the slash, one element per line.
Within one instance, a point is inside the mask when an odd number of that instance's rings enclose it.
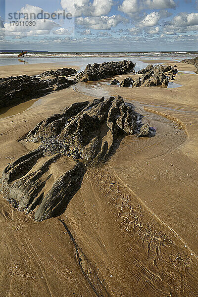
<path fill-rule="evenodd" d="M 49 117 L 28 134 L 27 140 L 42 141 L 43 148 L 46 148 L 49 139 L 58 136 L 60 144 L 64 145 L 65 155 L 87 163 L 98 161 L 104 143 L 107 142 L 105 154 L 108 155 L 118 135 L 134 133 L 136 114 L 121 97 L 95 99 L 88 103 L 81 103 L 76 115 L 69 116 L 67 109 L 62 114 Z M 108 131 L 108 141 L 101 139 L 101 126 Z M 50 147 L 53 148 L 53 145 Z"/>

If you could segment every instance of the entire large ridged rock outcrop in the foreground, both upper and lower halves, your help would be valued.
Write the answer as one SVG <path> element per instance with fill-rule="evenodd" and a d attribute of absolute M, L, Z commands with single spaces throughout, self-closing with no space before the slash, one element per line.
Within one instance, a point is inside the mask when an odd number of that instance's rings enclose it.
<path fill-rule="evenodd" d="M 4 169 L 3 197 L 20 211 L 34 211 L 37 221 L 60 215 L 80 189 L 86 167 L 106 161 L 134 133 L 136 120 L 119 96 L 75 103 L 50 116 L 26 138 L 40 147 Z M 58 165 L 59 176 L 53 169 Z"/>

